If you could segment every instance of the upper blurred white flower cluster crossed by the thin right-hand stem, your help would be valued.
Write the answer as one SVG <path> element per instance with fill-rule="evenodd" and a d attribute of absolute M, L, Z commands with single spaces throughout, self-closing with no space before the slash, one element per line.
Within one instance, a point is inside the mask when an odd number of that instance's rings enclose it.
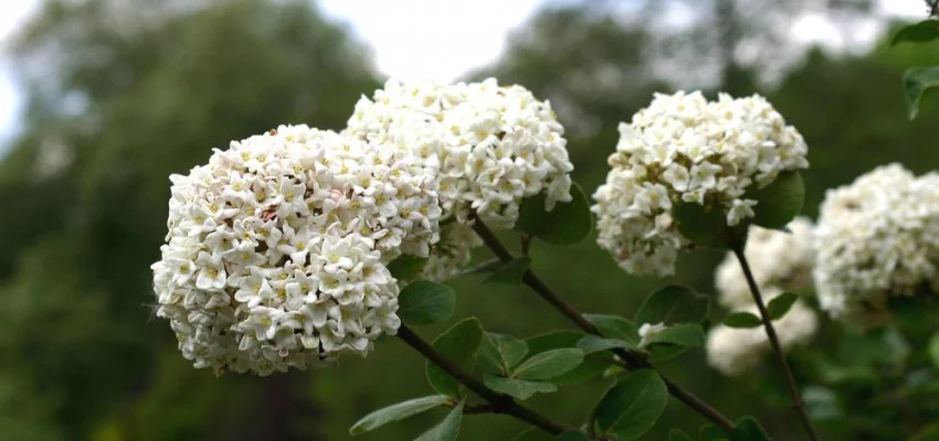
<path fill-rule="evenodd" d="M 812 268 L 815 263 L 815 240 L 812 220 L 796 217 L 787 225 L 789 232 L 750 227 L 743 255 L 757 286 L 785 291 L 805 291 L 812 288 Z M 732 252 L 727 252 L 717 267 L 715 284 L 718 300 L 725 308 L 735 309 L 753 304 L 750 287 Z"/>

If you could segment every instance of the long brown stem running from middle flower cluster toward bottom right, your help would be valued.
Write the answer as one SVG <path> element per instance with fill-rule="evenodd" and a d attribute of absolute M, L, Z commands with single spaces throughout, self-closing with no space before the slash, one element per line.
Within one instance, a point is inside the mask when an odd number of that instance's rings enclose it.
<path fill-rule="evenodd" d="M 511 252 L 505 247 L 505 245 L 499 241 L 499 239 L 493 234 L 493 232 L 486 227 L 478 218 L 475 219 L 473 224 L 473 229 L 476 230 L 476 234 L 479 238 L 483 239 L 483 243 L 486 244 L 487 247 L 493 251 L 496 257 L 504 261 L 513 260 Z M 538 276 L 535 276 L 535 272 L 530 269 L 528 272 L 523 276 L 521 281 L 527 284 L 531 290 L 534 290 L 541 299 L 545 299 L 548 303 L 550 303 L 555 309 L 560 311 L 565 316 L 567 316 L 570 321 L 574 322 L 578 327 L 587 332 L 588 334 L 602 336 L 600 330 L 591 323 L 589 320 L 584 319 L 583 314 L 580 313 L 573 305 L 561 299 L 555 291 L 552 291 L 547 284 L 545 284 Z M 641 354 L 631 353 L 623 348 L 613 348 L 612 352 L 616 354 L 620 358 L 622 358 L 623 363 L 626 365 L 626 368 L 630 369 L 642 369 L 642 368 L 653 368 L 652 364 L 648 363 L 647 359 Z M 684 402 L 686 406 L 690 407 L 705 418 L 709 419 L 711 422 L 724 429 L 727 433 L 731 433 L 735 430 L 734 421 L 730 421 L 727 417 L 721 415 L 717 409 L 710 407 L 707 402 L 703 401 L 700 398 L 696 397 L 694 394 L 683 389 L 665 376 L 662 376 L 662 379 L 665 381 L 666 387 L 668 388 L 668 392 L 672 394 L 673 397 L 677 398 L 679 401 Z"/>

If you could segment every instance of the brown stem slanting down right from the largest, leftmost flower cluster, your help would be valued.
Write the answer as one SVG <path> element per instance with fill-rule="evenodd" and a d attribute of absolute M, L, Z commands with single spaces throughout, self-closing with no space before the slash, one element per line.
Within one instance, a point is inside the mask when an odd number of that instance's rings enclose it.
<path fill-rule="evenodd" d="M 426 357 L 428 361 L 445 370 L 451 377 L 462 383 L 474 394 L 488 401 L 488 405 L 484 407 L 473 408 L 472 413 L 479 413 L 483 410 L 490 413 L 505 413 L 555 435 L 561 434 L 568 430 L 576 430 L 573 428 L 558 424 L 534 410 L 518 405 L 511 397 L 489 389 L 484 384 L 479 383 L 479 380 L 473 378 L 468 373 L 466 373 L 466 370 L 463 370 L 462 367 L 455 365 L 449 358 L 436 352 L 433 346 L 428 344 L 428 342 L 421 338 L 420 335 L 415 334 L 414 331 L 411 331 L 411 329 L 407 325 L 402 324 L 401 327 L 398 329 L 398 337 L 421 353 L 421 355 Z"/>

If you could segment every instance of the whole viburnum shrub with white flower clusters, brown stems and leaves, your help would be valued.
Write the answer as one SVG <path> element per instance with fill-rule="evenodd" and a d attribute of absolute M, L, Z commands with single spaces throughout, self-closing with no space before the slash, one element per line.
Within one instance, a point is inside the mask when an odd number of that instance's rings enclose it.
<path fill-rule="evenodd" d="M 899 311 L 890 300 L 939 288 L 939 178 L 879 168 L 830 191 L 813 224 L 799 216 L 808 144 L 760 96 L 655 95 L 620 125 L 592 203 L 571 181 L 566 144 L 548 101 L 495 79 L 390 80 L 340 132 L 281 126 L 233 141 L 170 176 L 156 315 L 183 357 L 218 375 L 330 365 L 397 336 L 426 358 L 436 395 L 377 410 L 351 434 L 449 408 L 419 440 L 454 440 L 464 416 L 481 412 L 559 440 L 632 440 L 671 398 L 707 421 L 703 439 L 769 440 L 756 419 L 731 419 L 657 370 L 704 347 L 728 376 L 774 354 L 817 440 L 802 395 L 814 402 L 819 390 L 800 387 L 787 353 L 810 345 L 824 315 L 876 326 Z M 680 251 L 724 250 L 722 323 L 710 325 L 710 299 L 683 286 L 655 290 L 631 316 L 583 313 L 550 288 L 529 248 L 582 241 L 594 214 L 597 244 L 631 273 L 672 275 Z M 484 246 L 494 259 L 467 268 Z M 466 318 L 425 341 L 416 327 L 453 315 L 455 293 L 440 283 L 471 272 L 526 286 L 577 331 L 525 340 Z M 525 405 L 594 376 L 613 385 L 582 421 Z"/>

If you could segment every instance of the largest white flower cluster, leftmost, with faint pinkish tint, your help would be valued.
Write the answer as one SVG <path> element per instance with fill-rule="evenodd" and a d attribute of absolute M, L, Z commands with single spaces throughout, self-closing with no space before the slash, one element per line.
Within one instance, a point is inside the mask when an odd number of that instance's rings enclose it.
<path fill-rule="evenodd" d="M 306 126 L 172 175 L 157 315 L 196 367 L 261 375 L 366 355 L 400 325 L 386 262 L 439 238 L 435 181 L 407 151 Z"/>

